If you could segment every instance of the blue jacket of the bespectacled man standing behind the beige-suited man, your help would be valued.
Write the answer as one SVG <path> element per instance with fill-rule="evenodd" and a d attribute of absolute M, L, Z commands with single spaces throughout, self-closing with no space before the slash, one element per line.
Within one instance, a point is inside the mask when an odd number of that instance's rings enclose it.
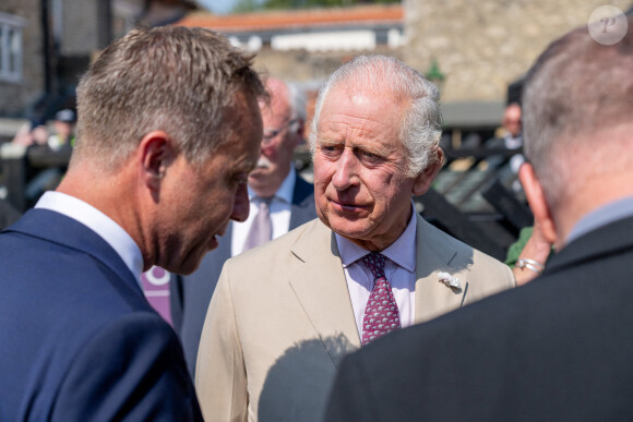
<path fill-rule="evenodd" d="M 297 174 L 290 205 L 290 230 L 314 218 L 316 218 L 314 186 Z M 222 237 L 218 248 L 204 256 L 195 273 L 186 277 L 174 275 L 169 282 L 171 321 L 182 341 L 184 358 L 192 377 L 195 375 L 198 346 L 206 310 L 222 267 L 230 257 L 231 238 L 232 221 Z"/>

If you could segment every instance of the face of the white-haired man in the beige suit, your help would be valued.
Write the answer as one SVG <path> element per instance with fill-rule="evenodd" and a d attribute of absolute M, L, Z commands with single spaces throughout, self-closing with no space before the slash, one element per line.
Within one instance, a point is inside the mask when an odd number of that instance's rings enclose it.
<path fill-rule="evenodd" d="M 336 86 L 321 111 L 314 196 L 321 220 L 371 250 L 383 250 L 411 216 L 421 176 L 406 176 L 399 125 L 408 103 L 390 93 Z M 417 193 L 417 192 L 416 192 Z"/>

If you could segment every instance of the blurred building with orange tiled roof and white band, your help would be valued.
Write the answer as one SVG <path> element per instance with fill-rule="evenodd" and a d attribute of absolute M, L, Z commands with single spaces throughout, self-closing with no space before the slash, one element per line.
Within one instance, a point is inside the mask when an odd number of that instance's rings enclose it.
<path fill-rule="evenodd" d="M 398 56 L 404 44 L 399 4 L 264 11 L 234 15 L 198 12 L 178 25 L 202 26 L 256 52 L 255 65 L 276 77 L 316 88 L 354 56 Z"/>

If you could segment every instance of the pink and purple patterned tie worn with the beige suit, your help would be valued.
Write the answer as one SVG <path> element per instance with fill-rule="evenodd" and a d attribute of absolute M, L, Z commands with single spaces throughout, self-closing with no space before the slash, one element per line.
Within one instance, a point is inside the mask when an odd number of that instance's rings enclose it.
<path fill-rule="evenodd" d="M 398 305 L 384 276 L 384 255 L 373 252 L 362 257 L 374 277 L 362 318 L 363 346 L 401 327 Z"/>

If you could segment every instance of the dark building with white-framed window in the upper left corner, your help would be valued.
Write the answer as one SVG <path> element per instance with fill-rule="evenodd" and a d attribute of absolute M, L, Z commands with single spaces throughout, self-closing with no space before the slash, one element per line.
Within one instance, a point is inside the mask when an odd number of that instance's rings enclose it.
<path fill-rule="evenodd" d="M 192 0 L 2 0 L 0 118 L 45 119 L 72 107 L 100 49 L 138 23 L 164 25 L 198 8 Z"/>

